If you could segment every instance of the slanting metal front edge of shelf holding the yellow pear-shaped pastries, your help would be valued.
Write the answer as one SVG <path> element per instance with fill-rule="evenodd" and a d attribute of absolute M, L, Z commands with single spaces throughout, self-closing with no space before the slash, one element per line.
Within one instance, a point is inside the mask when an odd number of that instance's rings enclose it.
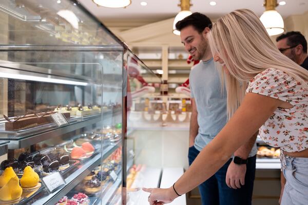
<path fill-rule="evenodd" d="M 31 202 L 31 204 L 32 205 L 56 204 L 57 201 L 59 201 L 64 195 L 66 195 L 76 185 L 78 185 L 95 167 L 99 166 L 101 162 L 108 156 L 110 156 L 117 148 L 118 148 L 117 145 L 108 146 L 103 150 L 102 154 L 98 153 L 97 155 L 93 156 L 89 161 L 85 162 L 82 167 L 79 167 L 79 169 L 74 170 L 67 178 L 65 178 L 66 185 L 63 188 L 51 194 L 48 194 L 44 189 L 44 193 L 42 194 L 43 196 L 40 197 L 40 199 Z"/>

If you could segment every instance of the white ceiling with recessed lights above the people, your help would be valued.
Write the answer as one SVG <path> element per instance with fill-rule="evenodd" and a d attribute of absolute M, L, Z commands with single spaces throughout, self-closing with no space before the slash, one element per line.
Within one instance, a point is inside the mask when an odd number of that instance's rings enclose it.
<path fill-rule="evenodd" d="M 174 17 L 179 11 L 180 0 L 131 0 L 127 8 L 111 9 L 98 7 L 91 0 L 78 0 L 94 16 L 102 22 L 156 22 L 158 20 Z M 147 6 L 141 6 L 140 2 L 147 2 Z M 211 0 L 213 1 L 213 0 Z M 240 8 L 247 8 L 255 11 L 261 16 L 265 10 L 262 6 L 263 0 L 214 0 L 216 6 L 210 6 L 210 0 L 190 0 L 193 4 L 190 7 L 192 12 L 201 12 L 212 19 L 218 18 L 228 12 Z M 282 0 L 278 0 L 280 2 Z M 278 6 L 277 11 L 283 18 L 289 15 L 303 14 L 308 11 L 308 0 L 284 0 L 286 5 Z M 307 19 L 308 20 L 308 19 Z"/>

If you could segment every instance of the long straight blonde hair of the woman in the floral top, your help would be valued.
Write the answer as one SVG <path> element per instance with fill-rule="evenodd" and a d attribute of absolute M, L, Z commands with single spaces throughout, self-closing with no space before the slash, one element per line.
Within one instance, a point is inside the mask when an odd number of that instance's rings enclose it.
<path fill-rule="evenodd" d="M 284 71 L 307 85 L 308 71 L 276 48 L 251 10 L 239 9 L 219 18 L 208 34 L 208 41 L 213 55 L 218 54 L 229 71 L 221 72 L 227 91 L 228 118 L 238 109 L 248 81 L 268 68 Z"/>

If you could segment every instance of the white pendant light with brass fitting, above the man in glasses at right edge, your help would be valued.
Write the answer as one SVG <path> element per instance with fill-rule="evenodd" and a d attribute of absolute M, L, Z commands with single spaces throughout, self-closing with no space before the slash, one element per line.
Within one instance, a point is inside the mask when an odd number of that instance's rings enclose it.
<path fill-rule="evenodd" d="M 275 10 L 275 8 L 278 6 L 277 0 L 265 0 L 263 6 L 265 7 L 265 11 L 261 15 L 260 20 L 264 25 L 268 35 L 278 35 L 283 33 L 283 19 L 281 15 Z"/>

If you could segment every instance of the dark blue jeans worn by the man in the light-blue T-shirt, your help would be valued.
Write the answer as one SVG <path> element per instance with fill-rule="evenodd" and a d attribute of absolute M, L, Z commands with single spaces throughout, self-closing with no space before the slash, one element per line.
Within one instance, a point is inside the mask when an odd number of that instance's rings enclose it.
<path fill-rule="evenodd" d="M 188 150 L 189 165 L 200 152 L 194 147 Z M 231 189 L 226 185 L 226 173 L 232 159 L 229 159 L 213 176 L 199 185 L 202 205 L 250 205 L 256 172 L 256 155 L 248 158 L 245 185 Z"/>

